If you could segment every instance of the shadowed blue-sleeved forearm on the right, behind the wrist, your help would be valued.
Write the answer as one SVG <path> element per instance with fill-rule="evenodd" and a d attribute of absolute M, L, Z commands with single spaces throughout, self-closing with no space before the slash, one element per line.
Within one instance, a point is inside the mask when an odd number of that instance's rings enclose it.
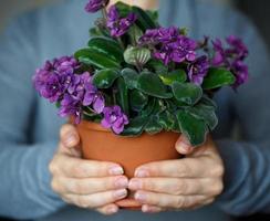
<path fill-rule="evenodd" d="M 232 215 L 270 212 L 270 148 L 217 141 L 225 164 L 225 191 L 217 203 Z"/>

